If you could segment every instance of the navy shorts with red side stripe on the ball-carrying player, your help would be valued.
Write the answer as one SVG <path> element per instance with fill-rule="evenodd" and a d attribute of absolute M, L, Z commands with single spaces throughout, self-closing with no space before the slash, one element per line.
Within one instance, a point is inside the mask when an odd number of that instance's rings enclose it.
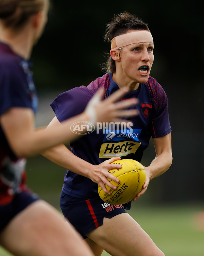
<path fill-rule="evenodd" d="M 100 197 L 81 199 L 69 196 L 63 191 L 60 197 L 62 213 L 85 239 L 86 234 L 103 225 L 103 218 L 112 218 L 125 213 L 121 205 L 105 203 Z"/>

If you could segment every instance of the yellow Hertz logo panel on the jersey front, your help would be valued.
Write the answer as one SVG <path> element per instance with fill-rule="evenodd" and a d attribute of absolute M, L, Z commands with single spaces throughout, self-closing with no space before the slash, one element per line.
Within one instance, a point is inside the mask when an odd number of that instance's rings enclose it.
<path fill-rule="evenodd" d="M 135 141 L 103 143 L 101 145 L 99 158 L 120 157 L 127 156 L 128 154 L 134 154 L 140 144 L 140 142 Z"/>

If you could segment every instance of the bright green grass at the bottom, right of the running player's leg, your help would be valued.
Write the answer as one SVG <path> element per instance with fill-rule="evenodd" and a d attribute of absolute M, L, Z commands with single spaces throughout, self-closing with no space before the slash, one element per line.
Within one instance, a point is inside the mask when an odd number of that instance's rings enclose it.
<path fill-rule="evenodd" d="M 135 202 L 133 209 L 128 212 L 166 256 L 203 256 L 204 231 L 197 230 L 193 225 L 194 214 L 199 211 L 204 211 L 204 207 L 199 205 L 147 207 Z M 11 256 L 2 248 L 0 255 Z M 102 255 L 109 254 L 103 252 Z"/>

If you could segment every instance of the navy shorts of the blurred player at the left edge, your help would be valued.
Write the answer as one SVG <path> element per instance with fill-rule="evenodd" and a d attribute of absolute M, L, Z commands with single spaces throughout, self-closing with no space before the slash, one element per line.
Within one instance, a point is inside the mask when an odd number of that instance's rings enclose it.
<path fill-rule="evenodd" d="M 39 200 L 36 194 L 22 191 L 14 196 L 11 203 L 0 205 L 0 232 L 19 212 L 36 200 Z"/>

